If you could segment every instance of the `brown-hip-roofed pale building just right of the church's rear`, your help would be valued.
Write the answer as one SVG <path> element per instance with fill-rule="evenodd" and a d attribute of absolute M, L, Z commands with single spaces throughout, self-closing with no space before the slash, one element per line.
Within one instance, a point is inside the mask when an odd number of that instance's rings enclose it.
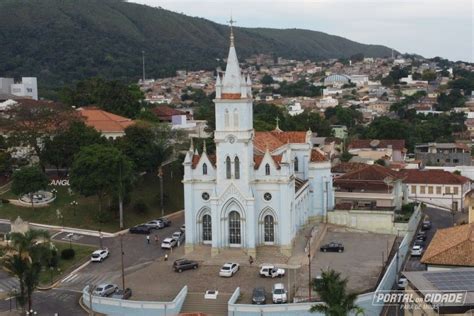
<path fill-rule="evenodd" d="M 334 178 L 336 205 L 352 209 L 399 210 L 403 203 L 402 175 L 380 165 L 367 165 Z"/>

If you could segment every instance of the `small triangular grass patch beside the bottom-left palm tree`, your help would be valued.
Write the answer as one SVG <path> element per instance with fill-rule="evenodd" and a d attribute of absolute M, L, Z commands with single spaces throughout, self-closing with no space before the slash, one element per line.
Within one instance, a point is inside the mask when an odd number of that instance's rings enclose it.
<path fill-rule="evenodd" d="M 61 259 L 61 250 L 69 248 L 69 243 L 54 242 L 54 245 L 58 249 L 59 264 L 58 267 L 54 270 L 49 270 L 46 268 L 44 271 L 41 271 L 39 281 L 40 285 L 42 286 L 51 285 L 51 280 L 53 280 L 53 282 L 56 281 L 65 273 L 69 273 L 70 270 L 72 270 L 73 268 L 76 268 L 82 263 L 89 260 L 91 253 L 97 249 L 97 247 L 73 244 L 72 249 L 74 249 L 76 255 L 70 260 L 64 260 Z"/>

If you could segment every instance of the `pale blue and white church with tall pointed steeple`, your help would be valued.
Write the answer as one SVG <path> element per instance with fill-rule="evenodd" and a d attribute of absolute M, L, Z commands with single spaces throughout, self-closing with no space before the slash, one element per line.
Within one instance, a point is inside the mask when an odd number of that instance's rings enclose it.
<path fill-rule="evenodd" d="M 216 78 L 215 155 L 191 148 L 184 160 L 185 251 L 209 245 L 257 256 L 273 245 L 291 255 L 309 221 L 334 207 L 331 164 L 314 148 L 311 131 L 256 132 L 252 83 L 239 66 L 231 27 L 225 73 Z"/>

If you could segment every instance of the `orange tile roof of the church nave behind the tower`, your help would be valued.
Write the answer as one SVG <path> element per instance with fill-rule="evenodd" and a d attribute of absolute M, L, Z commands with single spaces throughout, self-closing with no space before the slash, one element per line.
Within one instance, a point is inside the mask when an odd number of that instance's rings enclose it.
<path fill-rule="evenodd" d="M 306 143 L 306 132 L 256 132 L 253 143 L 261 152 L 273 151 L 287 143 Z"/>

